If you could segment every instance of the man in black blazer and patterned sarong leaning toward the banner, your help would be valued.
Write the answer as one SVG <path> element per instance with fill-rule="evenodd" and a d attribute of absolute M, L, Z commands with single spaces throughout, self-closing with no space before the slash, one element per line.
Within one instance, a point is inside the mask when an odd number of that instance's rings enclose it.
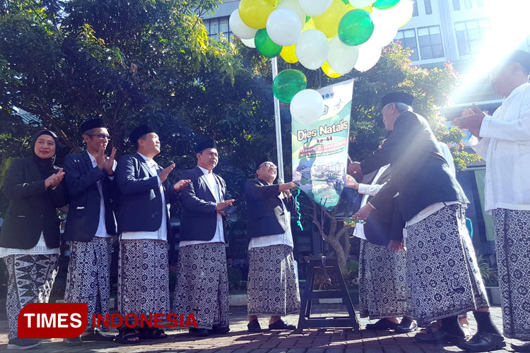
<path fill-rule="evenodd" d="M 382 99 L 383 122 L 390 136 L 382 148 L 363 162 L 353 162 L 350 173 L 367 174 L 385 164 L 391 179 L 357 214 L 366 219 L 399 193 L 406 220 L 406 273 L 411 316 L 418 325 L 442 319 L 439 329 L 418 333 L 420 342 L 460 342 L 464 332 L 458 315 L 475 311 L 478 333 L 488 337 L 481 349 L 502 345 L 502 335 L 491 321 L 488 299 L 471 239 L 466 229 L 464 191 L 442 156 L 428 122 L 412 112 L 413 97 L 403 92 Z"/>

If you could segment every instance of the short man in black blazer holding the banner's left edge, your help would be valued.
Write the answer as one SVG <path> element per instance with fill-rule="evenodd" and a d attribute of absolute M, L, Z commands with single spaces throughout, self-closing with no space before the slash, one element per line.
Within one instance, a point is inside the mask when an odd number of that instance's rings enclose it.
<path fill-rule="evenodd" d="M 293 257 L 290 213 L 296 212 L 289 190 L 296 185 L 273 184 L 278 167 L 271 157 L 256 163 L 257 179 L 245 185 L 249 210 L 249 276 L 247 282 L 250 332 L 259 332 L 258 316 L 271 316 L 269 330 L 294 330 L 282 316 L 300 311 L 300 290 Z"/>

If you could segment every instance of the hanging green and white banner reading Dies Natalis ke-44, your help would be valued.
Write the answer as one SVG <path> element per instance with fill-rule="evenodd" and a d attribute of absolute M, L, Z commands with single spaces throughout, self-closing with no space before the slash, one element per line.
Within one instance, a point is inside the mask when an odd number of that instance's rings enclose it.
<path fill-rule="evenodd" d="M 353 80 L 317 91 L 324 98 L 322 117 L 308 125 L 292 122 L 293 181 L 332 210 L 346 184 Z"/>

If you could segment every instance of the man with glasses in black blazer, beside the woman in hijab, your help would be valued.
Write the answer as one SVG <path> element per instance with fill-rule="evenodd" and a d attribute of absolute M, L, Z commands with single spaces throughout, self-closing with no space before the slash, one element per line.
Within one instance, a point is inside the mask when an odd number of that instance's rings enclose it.
<path fill-rule="evenodd" d="M 110 261 L 112 236 L 116 235 L 114 208 L 118 194 L 114 181 L 114 154 L 105 156 L 110 136 L 105 119 L 81 124 L 79 132 L 86 143 L 82 153 L 64 158 L 64 184 L 70 207 L 64 240 L 70 241 L 70 260 L 64 301 L 87 303 L 88 317 L 109 313 Z M 89 320 L 90 321 L 90 320 Z M 92 328 L 88 323 L 82 337 L 66 338 L 69 345 L 86 340 L 112 340 L 114 337 Z"/>

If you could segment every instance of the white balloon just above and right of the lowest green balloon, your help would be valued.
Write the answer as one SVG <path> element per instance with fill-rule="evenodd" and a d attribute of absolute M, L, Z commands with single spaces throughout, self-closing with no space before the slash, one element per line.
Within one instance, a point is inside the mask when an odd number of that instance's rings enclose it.
<path fill-rule="evenodd" d="M 326 62 L 328 52 L 328 39 L 319 30 L 306 30 L 296 41 L 296 57 L 300 64 L 310 70 L 316 70 L 322 66 Z"/>

